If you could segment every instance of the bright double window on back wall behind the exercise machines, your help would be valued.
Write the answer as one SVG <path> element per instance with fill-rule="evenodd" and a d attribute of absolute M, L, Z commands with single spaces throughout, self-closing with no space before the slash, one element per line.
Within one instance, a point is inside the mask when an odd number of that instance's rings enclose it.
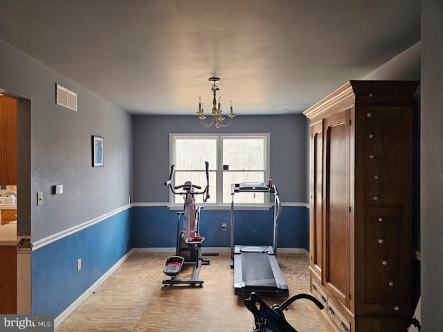
<path fill-rule="evenodd" d="M 170 133 L 170 160 L 175 165 L 175 185 L 191 181 L 206 186 L 205 161 L 209 163 L 208 205 L 230 205 L 233 183 L 267 182 L 269 178 L 269 133 L 196 135 Z M 170 196 L 173 205 L 183 197 Z M 202 195 L 197 201 L 203 203 Z M 235 204 L 267 205 L 264 193 L 242 193 Z"/>

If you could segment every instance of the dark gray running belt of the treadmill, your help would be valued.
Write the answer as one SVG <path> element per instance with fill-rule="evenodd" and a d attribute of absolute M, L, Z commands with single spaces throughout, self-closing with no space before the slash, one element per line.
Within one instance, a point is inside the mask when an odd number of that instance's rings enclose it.
<path fill-rule="evenodd" d="M 267 254 L 242 252 L 242 275 L 245 286 L 277 286 Z"/>

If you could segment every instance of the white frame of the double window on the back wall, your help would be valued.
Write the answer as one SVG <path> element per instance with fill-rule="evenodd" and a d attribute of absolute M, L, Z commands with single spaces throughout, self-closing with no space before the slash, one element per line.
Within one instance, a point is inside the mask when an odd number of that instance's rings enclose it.
<path fill-rule="evenodd" d="M 264 138 L 264 181 L 266 182 L 266 179 L 270 178 L 271 169 L 270 169 L 270 133 L 169 133 L 169 160 L 170 165 L 175 164 L 175 156 L 174 156 L 174 140 L 177 138 L 192 138 L 192 139 L 209 139 L 209 138 L 215 138 L 217 141 L 217 167 L 216 167 L 216 174 L 217 174 L 217 201 L 216 203 L 199 203 L 199 205 L 204 206 L 208 210 L 229 210 L 230 209 L 230 203 L 223 203 L 223 139 L 224 138 Z M 212 165 L 209 165 L 210 169 L 213 168 Z M 174 176 L 172 178 L 172 184 L 174 184 Z M 201 185 L 206 185 L 206 183 L 202 183 Z M 210 187 L 210 194 L 211 194 L 211 187 Z M 214 192 L 212 193 L 214 194 Z M 211 196 L 212 196 L 211 194 Z M 183 208 L 183 203 L 175 203 L 175 197 L 176 195 L 172 194 L 170 192 L 169 194 L 169 207 L 172 210 L 180 210 Z M 246 204 L 238 204 L 239 208 L 270 208 L 271 202 L 269 201 L 269 194 L 266 194 L 264 199 L 264 203 L 246 203 Z M 237 205 L 235 205 L 235 208 L 237 209 Z"/>

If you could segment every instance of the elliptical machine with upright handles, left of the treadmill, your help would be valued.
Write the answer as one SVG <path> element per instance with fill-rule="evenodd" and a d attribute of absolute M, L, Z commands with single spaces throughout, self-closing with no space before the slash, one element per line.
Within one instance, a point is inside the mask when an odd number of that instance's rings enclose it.
<path fill-rule="evenodd" d="M 175 256 L 170 256 L 165 260 L 163 266 L 163 273 L 171 277 L 171 279 L 163 280 L 163 285 L 168 286 L 172 284 L 191 284 L 201 286 L 204 283 L 203 279 L 199 279 L 199 272 L 201 264 L 209 264 L 210 259 L 200 257 L 200 248 L 203 244 L 204 237 L 199 233 L 200 210 L 197 207 L 197 195 L 203 194 L 203 201 L 209 199 L 209 163 L 205 162 L 206 166 L 206 187 L 202 192 L 201 186 L 193 185 L 191 181 L 186 181 L 183 185 L 172 186 L 172 174 L 174 173 L 174 165 L 171 166 L 169 180 L 164 184 L 168 185 L 171 192 L 176 195 L 183 195 L 185 201 L 183 211 L 177 212 L 177 246 Z M 181 190 L 181 191 L 176 191 Z M 183 216 L 183 230 L 180 232 L 180 221 Z M 177 279 L 183 264 L 193 264 L 194 271 L 190 279 Z"/>

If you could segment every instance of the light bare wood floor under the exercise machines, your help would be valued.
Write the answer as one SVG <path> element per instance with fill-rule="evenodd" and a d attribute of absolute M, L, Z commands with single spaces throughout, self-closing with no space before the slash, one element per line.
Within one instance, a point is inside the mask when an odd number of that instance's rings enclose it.
<path fill-rule="evenodd" d="M 233 294 L 233 270 L 228 253 L 208 257 L 199 277 L 204 285 L 163 286 L 163 263 L 168 254 L 134 253 L 57 329 L 66 331 L 253 331 L 253 315 Z M 289 295 L 309 293 L 309 261 L 304 254 L 279 254 Z M 186 268 L 180 277 L 190 277 Z M 284 297 L 263 295 L 272 306 Z M 318 309 L 300 299 L 285 311 L 298 332 L 330 332 Z"/>

